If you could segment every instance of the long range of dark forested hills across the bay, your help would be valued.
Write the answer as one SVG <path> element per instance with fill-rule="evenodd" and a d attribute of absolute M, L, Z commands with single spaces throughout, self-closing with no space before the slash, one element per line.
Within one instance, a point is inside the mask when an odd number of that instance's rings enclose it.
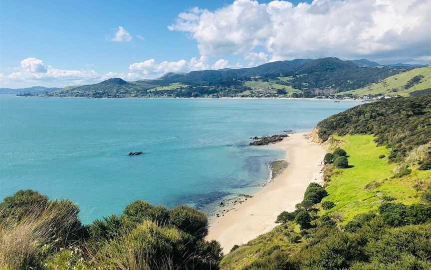
<path fill-rule="evenodd" d="M 412 69 L 411 65 L 380 65 L 367 59 L 295 59 L 251 68 L 167 73 L 158 79 L 132 82 L 112 78 L 92 85 L 48 90 L 49 93 L 39 95 L 89 98 L 316 97 L 356 93 L 354 91 L 358 89 Z"/>

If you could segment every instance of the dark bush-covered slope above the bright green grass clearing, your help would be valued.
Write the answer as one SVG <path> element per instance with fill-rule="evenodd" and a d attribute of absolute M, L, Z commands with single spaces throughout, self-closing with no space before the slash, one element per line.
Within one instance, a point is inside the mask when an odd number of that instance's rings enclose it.
<path fill-rule="evenodd" d="M 430 142 L 431 96 L 392 98 L 364 104 L 317 124 L 323 141 L 330 135 L 374 134 L 391 148 L 389 159 L 402 161 L 414 148 Z"/>

